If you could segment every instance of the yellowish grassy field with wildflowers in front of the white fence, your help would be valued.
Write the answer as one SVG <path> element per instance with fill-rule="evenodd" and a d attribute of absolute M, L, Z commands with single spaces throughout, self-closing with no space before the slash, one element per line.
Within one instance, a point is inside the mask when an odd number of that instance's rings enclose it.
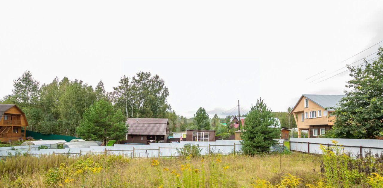
<path fill-rule="evenodd" d="M 199 187 L 252 187 L 250 184 L 257 178 L 274 184 L 285 174 L 302 178 L 303 183 L 313 183 L 321 178 L 320 164 L 318 156 L 301 153 L 161 158 L 154 163 L 152 159 L 104 155 L 19 156 L 0 162 L 0 185 L 37 188 L 160 187 L 163 184 L 164 187 L 177 187 L 177 179 L 194 178 Z"/>

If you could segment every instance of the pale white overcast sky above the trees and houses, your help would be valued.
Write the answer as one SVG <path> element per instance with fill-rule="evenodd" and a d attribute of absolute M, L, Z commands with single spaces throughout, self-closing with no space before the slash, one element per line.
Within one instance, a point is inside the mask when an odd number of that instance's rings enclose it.
<path fill-rule="evenodd" d="M 237 114 L 237 100 L 241 113 L 260 97 L 286 111 L 302 94 L 343 94 L 348 72 L 320 81 L 383 40 L 381 0 L 0 2 L 1 98 L 26 70 L 41 84 L 102 79 L 107 91 L 150 71 L 187 117 Z"/>

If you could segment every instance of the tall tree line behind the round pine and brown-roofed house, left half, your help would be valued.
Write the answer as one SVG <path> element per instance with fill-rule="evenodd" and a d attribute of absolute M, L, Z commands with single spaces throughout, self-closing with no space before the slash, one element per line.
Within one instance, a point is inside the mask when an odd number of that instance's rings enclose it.
<path fill-rule="evenodd" d="M 164 80 L 150 72 L 121 77 L 112 92 L 106 92 L 102 80 L 93 88 L 82 80 L 67 77 L 61 80 L 56 77 L 40 86 L 30 71 L 14 80 L 13 86 L 12 93 L 0 102 L 18 105 L 28 119 L 27 129 L 44 134 L 76 136 L 85 110 L 98 100 L 109 101 L 125 118 L 178 119 L 167 103 L 169 90 Z"/>

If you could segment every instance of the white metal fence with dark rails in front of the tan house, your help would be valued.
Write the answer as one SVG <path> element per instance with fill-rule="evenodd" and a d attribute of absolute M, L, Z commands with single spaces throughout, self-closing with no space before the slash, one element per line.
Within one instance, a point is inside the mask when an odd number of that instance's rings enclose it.
<path fill-rule="evenodd" d="M 290 138 L 290 150 L 304 153 L 322 154 L 320 145 L 334 146 L 332 140 L 338 141 L 338 145 L 344 147 L 345 152 L 349 152 L 356 157 L 358 154 L 365 156 L 365 152 L 380 155 L 383 152 L 383 140 L 369 139 L 344 139 L 344 138 Z"/>

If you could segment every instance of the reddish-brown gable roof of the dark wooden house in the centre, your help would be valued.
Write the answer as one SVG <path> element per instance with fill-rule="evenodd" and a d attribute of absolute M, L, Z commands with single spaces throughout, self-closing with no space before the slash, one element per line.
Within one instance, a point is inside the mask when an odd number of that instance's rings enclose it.
<path fill-rule="evenodd" d="M 167 135 L 168 119 L 128 118 L 128 135 Z"/>

